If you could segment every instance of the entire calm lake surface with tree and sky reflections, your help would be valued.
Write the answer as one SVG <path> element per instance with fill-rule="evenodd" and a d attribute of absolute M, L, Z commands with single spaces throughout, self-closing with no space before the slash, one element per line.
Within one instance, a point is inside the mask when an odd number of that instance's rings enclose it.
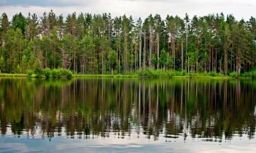
<path fill-rule="evenodd" d="M 256 152 L 252 80 L 0 79 L 0 152 Z"/>

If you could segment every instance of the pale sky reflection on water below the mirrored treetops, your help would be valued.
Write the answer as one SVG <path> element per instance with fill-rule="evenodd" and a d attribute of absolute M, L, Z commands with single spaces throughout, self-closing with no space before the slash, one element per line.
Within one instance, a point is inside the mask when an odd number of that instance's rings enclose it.
<path fill-rule="evenodd" d="M 256 152 L 256 139 L 243 137 L 233 137 L 231 140 L 203 141 L 187 137 L 169 139 L 160 135 L 157 141 L 147 139 L 147 136 L 132 132 L 124 139 L 118 135 L 109 134 L 109 137 L 94 137 L 94 139 L 74 139 L 66 136 L 57 136 L 49 141 L 48 138 L 42 139 L 38 133 L 34 138 L 27 138 L 27 135 L 14 137 L 8 128 L 8 133 L 0 137 L 0 152 Z M 64 134 L 64 133 L 63 133 Z M 190 134 L 188 134 L 190 135 Z"/>

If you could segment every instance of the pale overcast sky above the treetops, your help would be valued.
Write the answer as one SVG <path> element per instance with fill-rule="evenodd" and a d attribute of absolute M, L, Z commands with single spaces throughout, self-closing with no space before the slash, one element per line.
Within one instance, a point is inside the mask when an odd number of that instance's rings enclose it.
<path fill-rule="evenodd" d="M 255 0 L 0 0 L 0 13 L 13 16 L 22 12 L 42 15 L 53 10 L 55 14 L 66 16 L 72 12 L 93 14 L 111 13 L 112 16 L 132 15 L 145 18 L 149 14 L 167 14 L 184 17 L 197 15 L 233 14 L 236 18 L 256 17 Z"/>

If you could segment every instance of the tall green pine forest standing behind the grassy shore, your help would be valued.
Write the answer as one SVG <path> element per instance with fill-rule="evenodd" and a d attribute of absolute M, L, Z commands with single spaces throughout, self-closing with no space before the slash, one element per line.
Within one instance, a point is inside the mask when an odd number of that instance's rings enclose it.
<path fill-rule="evenodd" d="M 145 69 L 216 72 L 255 67 L 256 19 L 229 14 L 147 18 L 81 13 L 0 18 L 0 72 L 69 69 L 79 74 L 127 74 Z"/>

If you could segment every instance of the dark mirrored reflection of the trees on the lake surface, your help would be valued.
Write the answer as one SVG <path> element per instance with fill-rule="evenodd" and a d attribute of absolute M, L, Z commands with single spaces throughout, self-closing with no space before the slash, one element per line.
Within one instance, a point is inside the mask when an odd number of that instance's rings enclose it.
<path fill-rule="evenodd" d="M 255 136 L 252 80 L 0 80 L 1 134 L 137 135 L 223 141 Z"/>

